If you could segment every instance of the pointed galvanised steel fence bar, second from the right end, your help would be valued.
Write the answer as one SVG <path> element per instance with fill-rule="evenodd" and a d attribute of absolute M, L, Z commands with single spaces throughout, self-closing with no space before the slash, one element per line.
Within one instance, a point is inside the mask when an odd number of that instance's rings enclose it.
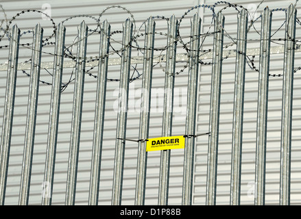
<path fill-rule="evenodd" d="M 258 106 L 255 165 L 255 205 L 265 205 L 265 153 L 267 144 L 267 103 L 269 90 L 269 49 L 272 12 L 261 14 L 261 55 L 258 76 Z"/>

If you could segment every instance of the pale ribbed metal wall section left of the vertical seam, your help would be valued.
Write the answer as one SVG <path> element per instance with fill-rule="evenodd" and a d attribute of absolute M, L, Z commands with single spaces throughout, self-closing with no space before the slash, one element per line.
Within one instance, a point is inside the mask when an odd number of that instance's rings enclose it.
<path fill-rule="evenodd" d="M 12 18 L 16 13 L 27 9 L 41 10 L 41 7 L 47 1 L 7 1 L 1 2 L 3 9 L 8 18 Z M 136 31 L 142 25 L 149 16 L 166 16 L 170 17 L 175 14 L 177 18 L 182 16 L 186 11 L 186 8 L 191 8 L 193 5 L 197 5 L 197 1 L 51 1 L 51 18 L 58 25 L 60 21 L 79 14 L 88 14 L 98 18 L 99 14 L 103 12 L 108 6 L 121 5 L 134 15 L 136 21 Z M 192 16 L 192 15 L 191 15 Z M 188 35 L 190 33 L 190 18 L 186 18 L 186 23 L 182 25 L 181 34 Z M 122 24 L 126 18 L 130 17 L 130 14 L 124 10 L 113 8 L 104 13 L 101 17 L 101 21 L 108 19 L 110 23 L 111 32 L 122 29 Z M 2 18 L 2 17 L 1 17 Z M 70 21 L 64 23 L 67 28 L 66 32 L 66 46 L 73 43 L 73 40 L 77 36 L 77 26 L 82 20 L 86 21 L 89 29 L 95 29 L 95 21 L 91 18 L 73 18 Z M 17 24 L 23 31 L 32 29 L 36 23 L 40 22 L 44 30 L 44 36 L 52 34 L 51 21 L 44 21 L 41 18 L 41 14 L 30 12 L 18 16 L 12 24 Z M 165 47 L 167 33 L 167 22 L 162 19 L 156 20 L 156 31 L 162 31 L 163 35 L 156 34 L 155 47 Z M 144 27 L 141 28 L 141 33 L 144 32 Z M 115 40 L 121 40 L 122 34 L 115 34 L 113 38 Z M 45 39 L 45 38 L 44 38 Z M 51 39 L 54 42 L 54 38 Z M 51 41 L 50 40 L 50 41 Z M 32 35 L 25 34 L 21 37 L 21 43 L 32 42 Z M 1 42 L 2 44 L 5 42 Z M 8 42 L 9 44 L 9 42 Z M 143 47 L 144 36 L 139 38 L 139 45 Z M 115 49 L 120 49 L 121 46 L 118 43 L 113 43 Z M 98 55 L 99 49 L 99 34 L 95 36 L 89 36 L 87 55 Z M 43 51 L 53 53 L 53 46 L 43 47 Z M 180 49 L 178 49 L 180 51 Z M 76 52 L 76 47 L 73 47 L 73 53 Z M 31 49 L 25 49 L 20 47 L 20 62 L 24 62 L 31 57 Z M 137 55 L 133 52 L 132 56 Z M 141 55 L 141 54 L 140 54 Z M 53 56 L 43 54 L 43 62 L 53 62 Z M 113 56 L 114 57 L 114 56 Z M 116 56 L 115 56 L 116 57 Z M 1 49 L 1 63 L 7 61 L 8 49 Z M 65 58 L 65 61 L 67 59 Z M 164 64 L 163 64 L 164 66 Z M 177 66 L 180 70 L 183 64 Z M 142 71 L 142 64 L 137 66 L 139 72 Z M 88 69 L 88 68 L 86 68 Z M 72 68 L 65 68 L 63 73 L 63 82 L 69 80 Z M 119 79 L 120 66 L 109 66 L 108 78 Z M 132 69 L 131 69 L 132 70 Z M 52 70 L 49 69 L 52 73 Z M 5 80 L 6 73 L 1 74 L 1 101 L 3 104 L 5 98 Z M 28 72 L 29 73 L 29 72 Z M 92 74 L 97 73 L 97 68 L 91 71 Z M 19 187 L 21 181 L 21 168 L 23 159 L 23 145 L 24 145 L 24 132 L 27 114 L 27 95 L 29 88 L 29 77 L 19 70 L 18 79 L 16 84 L 16 100 L 14 111 L 14 128 L 12 130 L 12 147 L 10 151 L 10 164 L 8 169 L 8 183 L 6 189 L 5 204 L 16 205 L 19 200 Z M 136 76 L 136 75 L 134 75 Z M 176 88 L 184 88 L 187 86 L 187 71 L 176 77 Z M 165 74 L 159 65 L 154 68 L 153 73 L 153 88 L 164 88 Z M 45 70 L 41 70 L 40 80 L 51 82 L 51 76 Z M 74 82 L 73 82 L 74 83 Z M 67 168 L 69 157 L 69 142 L 71 135 L 71 117 L 72 117 L 72 103 L 73 103 L 73 83 L 71 83 L 61 96 L 60 105 L 60 125 L 58 127 L 58 145 L 56 152 L 56 168 L 54 175 L 52 204 L 62 205 L 65 201 L 65 192 L 67 184 Z M 96 84 L 97 79 L 94 77 L 85 76 L 84 85 L 84 105 L 82 114 L 82 133 L 80 142 L 80 155 L 78 163 L 77 174 L 77 191 L 75 204 L 86 205 L 88 204 L 88 189 L 91 172 L 91 156 L 92 156 L 92 144 L 93 144 L 93 125 L 94 125 L 94 109 L 96 99 Z M 118 91 L 119 82 L 108 81 L 107 94 L 106 94 L 106 118 L 104 122 L 104 144 L 101 161 L 101 177 L 99 184 L 99 205 L 110 205 L 112 198 L 112 179 L 113 179 L 113 167 L 115 156 L 115 140 L 116 140 L 116 126 L 117 126 L 117 113 L 114 112 L 113 107 L 118 103 Z M 137 94 L 137 90 L 141 88 L 141 78 L 130 83 L 130 96 L 133 96 L 136 92 L 136 99 L 130 99 L 130 104 L 136 103 L 140 99 L 140 94 Z M 117 89 L 117 90 L 118 90 Z M 186 90 L 184 91 L 186 93 Z M 32 181 L 29 194 L 29 205 L 40 205 L 42 201 L 42 183 L 45 171 L 45 157 L 47 146 L 47 132 L 48 132 L 48 120 L 49 120 L 49 104 L 51 97 L 51 86 L 40 85 L 39 97 L 38 97 L 38 114 L 36 118 L 36 138 L 34 145 L 34 157 L 32 166 Z M 162 109 L 163 96 L 159 96 L 158 103 L 160 103 Z M 186 104 L 186 100 L 184 100 Z M 1 105 L 2 105 L 1 104 Z M 139 103 L 136 103 L 136 106 Z M 139 134 L 139 111 L 130 107 L 128 113 L 128 127 L 127 138 L 138 138 Z M 3 114 L 3 107 L 1 107 L 0 114 Z M 180 113 L 178 113 L 180 114 Z M 177 114 L 175 114 L 177 116 Z M 185 115 L 181 116 L 180 120 L 174 120 L 173 122 L 173 134 L 184 134 Z M 2 118 L 1 118 L 2 120 Z M 0 121 L 1 123 L 1 121 Z M 1 123 L 2 124 L 2 123 Z M 162 110 L 158 113 L 154 112 L 150 118 L 150 130 L 149 138 L 155 138 L 161 135 L 162 125 Z M 172 151 L 171 153 L 171 178 L 169 189 L 169 204 L 180 204 L 182 197 L 182 164 L 183 164 L 184 151 Z M 123 198 L 122 204 L 134 204 L 135 196 L 135 183 L 136 183 L 136 159 L 138 154 L 138 144 L 134 142 L 127 142 L 125 146 L 125 163 L 124 163 L 124 175 L 123 175 Z M 159 182 L 159 166 L 160 166 L 160 152 L 149 153 L 147 159 L 147 184 L 146 184 L 146 198 L 145 204 L 158 203 L 158 182 Z"/>

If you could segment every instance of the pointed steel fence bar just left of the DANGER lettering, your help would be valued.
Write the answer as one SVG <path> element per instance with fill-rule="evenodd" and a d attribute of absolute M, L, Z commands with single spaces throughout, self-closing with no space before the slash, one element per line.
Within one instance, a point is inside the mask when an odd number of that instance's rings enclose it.
<path fill-rule="evenodd" d="M 142 94 L 141 94 L 139 140 L 146 140 L 149 134 L 149 112 L 151 106 L 155 26 L 156 23 L 154 22 L 152 16 L 149 17 L 145 25 L 145 45 L 144 45 L 145 51 L 144 51 L 144 59 L 143 59 L 143 79 L 142 79 Z M 139 141 L 135 205 L 144 205 L 146 167 L 147 167 L 146 141 Z"/>

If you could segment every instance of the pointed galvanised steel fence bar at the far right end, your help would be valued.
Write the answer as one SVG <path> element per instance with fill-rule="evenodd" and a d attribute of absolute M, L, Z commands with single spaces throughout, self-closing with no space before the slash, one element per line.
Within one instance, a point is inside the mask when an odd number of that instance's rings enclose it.
<path fill-rule="evenodd" d="M 291 188 L 291 123 L 293 111 L 293 65 L 295 59 L 296 8 L 287 10 L 285 63 L 282 85 L 282 119 L 280 152 L 280 205 L 290 204 Z"/>

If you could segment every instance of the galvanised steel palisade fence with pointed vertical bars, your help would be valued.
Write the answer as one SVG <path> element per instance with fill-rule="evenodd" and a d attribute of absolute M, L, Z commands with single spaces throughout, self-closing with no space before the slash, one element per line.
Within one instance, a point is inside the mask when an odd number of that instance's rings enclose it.
<path fill-rule="evenodd" d="M 285 51 L 284 72 L 282 86 L 282 131 L 281 131 L 281 157 L 280 157 L 280 205 L 289 205 L 290 201 L 290 164 L 291 164 L 291 121 L 293 101 L 293 73 L 296 34 L 296 8 L 290 5 L 287 10 L 285 24 Z M 200 29 L 201 19 L 195 14 L 191 20 L 191 39 L 189 60 L 189 83 L 187 91 L 186 131 L 184 137 L 184 171 L 182 186 L 182 205 L 191 205 L 193 190 L 193 166 L 195 140 L 200 133 L 195 131 L 197 112 L 197 83 L 200 64 Z M 267 103 L 269 87 L 269 56 L 271 40 L 272 12 L 265 8 L 261 14 L 261 47 L 260 66 L 258 68 L 258 111 L 256 133 L 256 179 L 255 179 L 255 205 L 265 204 L 265 155 L 267 136 Z M 123 25 L 123 49 L 121 52 L 121 70 L 119 81 L 119 111 L 117 114 L 117 136 L 115 147 L 114 180 L 112 186 L 112 205 L 121 205 L 123 188 L 123 162 L 125 154 L 126 127 L 128 116 L 129 81 L 132 48 L 132 21 L 126 20 Z M 146 144 L 149 138 L 149 114 L 152 91 L 152 70 L 154 62 L 154 33 L 155 22 L 152 17 L 145 23 L 145 48 L 143 60 L 143 79 L 139 139 L 138 161 L 136 168 L 136 196 L 135 204 L 145 203 L 145 179 L 147 170 Z M 230 205 L 240 204 L 241 188 L 241 148 L 243 135 L 243 101 L 245 83 L 245 64 L 247 54 L 248 12 L 242 9 L 239 12 L 237 28 L 237 49 L 235 82 L 234 82 L 234 112 L 232 128 L 232 161 L 230 176 Z M 64 39 L 65 27 L 60 23 L 56 29 L 56 50 L 53 62 L 53 81 L 49 115 L 49 133 L 47 140 L 47 157 L 45 162 L 44 181 L 49 182 L 48 192 L 52 193 L 53 175 L 56 164 L 56 144 L 58 136 L 58 121 L 60 115 L 60 95 L 62 86 L 62 72 L 64 70 Z M 206 186 L 206 204 L 215 205 L 217 185 L 217 152 L 219 142 L 219 108 L 221 97 L 221 74 L 224 60 L 224 16 L 219 13 L 215 17 L 214 42 L 212 49 L 213 66 L 210 94 L 210 123 L 208 138 L 208 169 Z M 82 105 L 84 92 L 84 75 L 86 67 L 88 27 L 82 22 L 79 27 L 78 46 L 75 68 L 73 117 L 71 124 L 71 140 L 69 149 L 69 167 L 67 177 L 66 205 L 75 204 L 75 188 L 77 183 L 77 162 L 80 148 L 80 131 L 82 120 Z M 8 75 L 3 115 L 3 129 L 1 136 L 1 168 L 0 168 L 0 200 L 5 201 L 5 187 L 8 175 L 8 160 L 10 157 L 10 142 L 12 136 L 12 120 L 14 116 L 14 97 L 16 89 L 16 73 L 18 69 L 20 30 L 14 25 L 10 38 L 10 53 L 8 58 Z M 29 200 L 29 187 L 31 178 L 32 155 L 34 149 L 34 136 L 36 127 L 36 112 L 38 107 L 38 88 L 41 66 L 43 28 L 36 25 L 34 29 L 34 43 L 32 44 L 32 63 L 30 74 L 30 88 L 28 96 L 27 123 L 25 130 L 25 143 L 23 153 L 23 166 L 19 193 L 19 205 L 27 205 Z M 176 62 L 178 43 L 178 20 L 175 16 L 169 19 L 167 33 L 166 55 L 162 62 L 165 68 L 165 97 L 162 118 L 162 136 L 171 136 L 173 118 L 173 88 L 176 76 Z M 97 75 L 97 99 L 95 105 L 95 126 L 93 133 L 93 157 L 91 158 L 89 205 L 97 205 L 99 199 L 99 176 L 101 167 L 101 147 L 104 131 L 106 83 L 108 73 L 108 54 L 110 50 L 110 24 L 104 21 L 101 26 L 99 48 L 99 63 Z M 160 157 L 160 183 L 158 205 L 168 204 L 170 150 L 161 151 Z M 51 195 L 44 196 L 43 205 L 51 205 Z"/>

